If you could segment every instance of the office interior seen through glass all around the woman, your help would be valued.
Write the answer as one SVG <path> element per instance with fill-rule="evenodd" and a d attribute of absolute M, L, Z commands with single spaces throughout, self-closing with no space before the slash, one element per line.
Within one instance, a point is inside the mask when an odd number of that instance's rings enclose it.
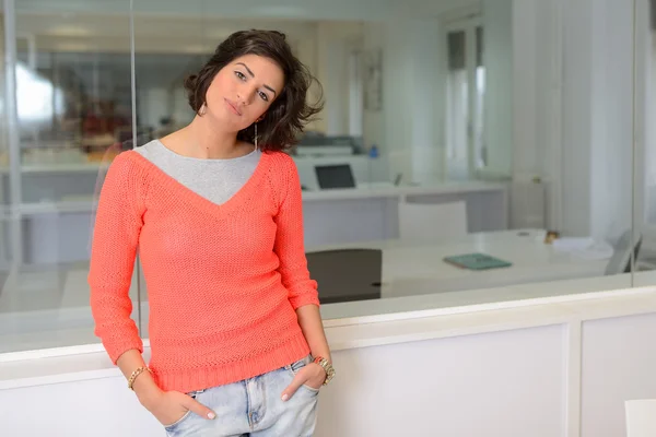
<path fill-rule="evenodd" d="M 284 32 L 323 84 L 290 153 L 328 323 L 656 284 L 649 3 L 5 0 L 0 353 L 97 345 L 104 172 L 191 120 L 184 78 L 243 28 Z"/>

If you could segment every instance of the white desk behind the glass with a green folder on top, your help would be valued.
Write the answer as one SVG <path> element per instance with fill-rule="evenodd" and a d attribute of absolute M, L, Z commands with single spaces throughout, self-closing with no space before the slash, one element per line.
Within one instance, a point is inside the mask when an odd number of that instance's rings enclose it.
<path fill-rule="evenodd" d="M 525 233 L 527 235 L 522 235 Z M 558 252 L 543 241 L 543 231 L 500 231 L 422 246 L 385 240 L 308 247 L 307 251 L 366 248 L 383 250 L 382 297 L 490 288 L 524 283 L 601 276 L 608 260 L 584 260 Z M 443 261 L 447 256 L 483 252 L 513 263 L 509 268 L 472 271 Z"/>

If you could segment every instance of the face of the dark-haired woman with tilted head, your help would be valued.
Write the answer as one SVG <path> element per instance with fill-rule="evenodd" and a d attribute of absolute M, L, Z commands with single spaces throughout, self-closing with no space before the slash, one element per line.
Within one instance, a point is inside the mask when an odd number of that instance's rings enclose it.
<path fill-rule="evenodd" d="M 245 55 L 226 64 L 206 94 L 206 115 L 225 129 L 239 131 L 269 109 L 284 85 L 284 74 L 269 58 Z"/>

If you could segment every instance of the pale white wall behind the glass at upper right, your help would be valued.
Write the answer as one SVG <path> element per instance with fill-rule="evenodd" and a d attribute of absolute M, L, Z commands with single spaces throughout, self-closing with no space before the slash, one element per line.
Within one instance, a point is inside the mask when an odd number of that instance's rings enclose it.
<path fill-rule="evenodd" d="M 516 179 L 541 176 L 548 226 L 614 238 L 630 226 L 632 0 L 516 1 Z"/>

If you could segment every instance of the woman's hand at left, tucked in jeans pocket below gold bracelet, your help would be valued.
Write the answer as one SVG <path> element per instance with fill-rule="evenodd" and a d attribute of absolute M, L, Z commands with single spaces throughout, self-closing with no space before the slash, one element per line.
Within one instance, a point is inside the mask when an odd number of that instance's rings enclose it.
<path fill-rule="evenodd" d="M 178 422 L 189 411 L 208 420 L 216 417 L 212 410 L 208 409 L 190 395 L 178 391 L 160 390 L 143 400 L 140 399 L 140 401 L 142 405 L 145 406 L 145 409 L 164 426 L 169 426 Z"/>

